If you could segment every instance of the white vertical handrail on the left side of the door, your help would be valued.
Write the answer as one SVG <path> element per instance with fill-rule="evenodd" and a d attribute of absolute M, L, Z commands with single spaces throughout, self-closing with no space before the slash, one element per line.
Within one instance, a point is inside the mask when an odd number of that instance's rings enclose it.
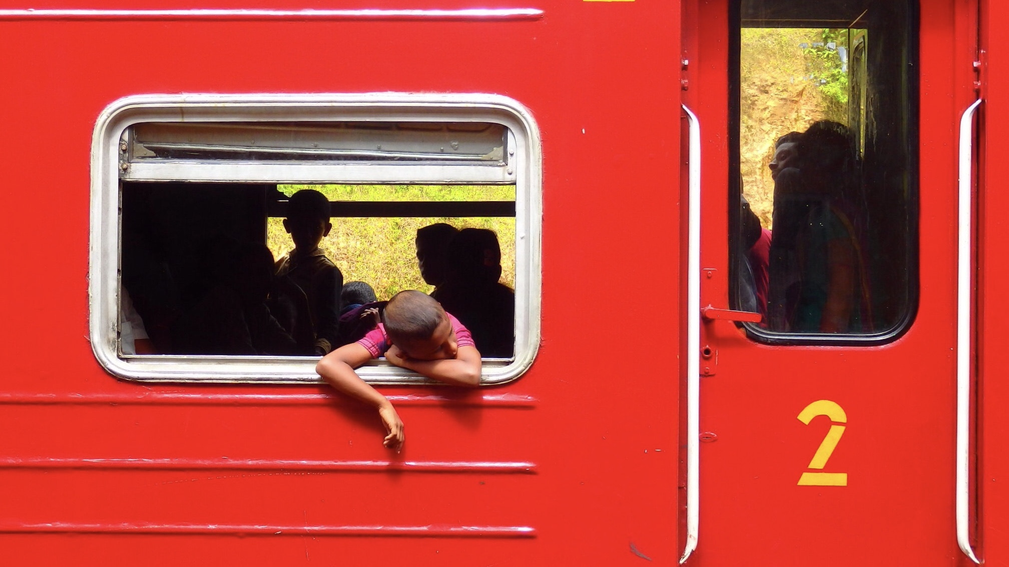
<path fill-rule="evenodd" d="M 690 123 L 687 165 L 687 541 L 680 563 L 697 549 L 698 481 L 700 479 L 700 123 L 681 105 Z"/>

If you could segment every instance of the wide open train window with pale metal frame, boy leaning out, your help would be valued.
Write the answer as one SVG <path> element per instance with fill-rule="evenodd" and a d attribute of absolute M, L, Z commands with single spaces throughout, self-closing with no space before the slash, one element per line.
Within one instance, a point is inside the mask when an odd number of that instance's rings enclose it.
<path fill-rule="evenodd" d="M 332 228 L 309 239 L 317 248 L 294 250 L 286 219 L 307 200 Z M 350 281 L 368 284 L 378 301 L 432 292 L 415 236 L 440 224 L 496 236 L 496 246 L 480 244 L 489 266 L 480 273 L 497 278 L 493 312 L 511 328 L 492 344 L 474 340 L 483 382 L 500 383 L 532 363 L 539 342 L 540 202 L 538 131 L 504 97 L 122 99 L 94 136 L 92 345 L 106 369 L 131 379 L 316 381 L 319 354 L 352 340 L 341 316 L 356 322 L 356 313 L 320 307 L 276 262 L 328 262 L 326 294 Z M 373 383 L 426 380 L 383 360 L 359 373 Z"/>

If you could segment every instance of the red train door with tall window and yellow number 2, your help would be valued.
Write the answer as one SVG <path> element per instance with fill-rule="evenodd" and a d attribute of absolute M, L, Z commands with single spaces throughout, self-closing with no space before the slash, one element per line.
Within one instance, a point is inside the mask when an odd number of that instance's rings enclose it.
<path fill-rule="evenodd" d="M 974 53 L 960 46 L 977 37 L 969 4 L 685 8 L 691 165 L 699 153 L 687 564 L 962 561 L 957 136 L 976 96 L 961 72 Z"/>

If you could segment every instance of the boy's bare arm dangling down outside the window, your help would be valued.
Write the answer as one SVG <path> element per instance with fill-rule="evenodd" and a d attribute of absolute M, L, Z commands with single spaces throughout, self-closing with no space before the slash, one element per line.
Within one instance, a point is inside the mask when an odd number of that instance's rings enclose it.
<path fill-rule="evenodd" d="M 354 368 L 371 359 L 371 353 L 363 346 L 352 343 L 330 352 L 316 365 L 316 372 L 337 390 L 355 398 L 378 410 L 378 416 L 385 425 L 382 442 L 388 449 L 399 451 L 403 447 L 403 421 L 393 408 L 393 403 L 361 379 Z"/>

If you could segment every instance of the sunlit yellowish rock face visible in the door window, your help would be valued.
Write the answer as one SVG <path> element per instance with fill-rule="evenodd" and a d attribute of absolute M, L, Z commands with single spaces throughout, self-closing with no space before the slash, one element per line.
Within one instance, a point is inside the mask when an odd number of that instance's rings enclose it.
<path fill-rule="evenodd" d="M 801 132 L 817 120 L 848 122 L 847 111 L 830 108 L 809 79 L 806 56 L 799 47 L 820 40 L 821 34 L 821 29 L 743 30 L 740 169 L 743 194 L 765 228 L 772 228 L 774 182 L 767 165 L 774 158 L 774 141 L 792 130 Z"/>

